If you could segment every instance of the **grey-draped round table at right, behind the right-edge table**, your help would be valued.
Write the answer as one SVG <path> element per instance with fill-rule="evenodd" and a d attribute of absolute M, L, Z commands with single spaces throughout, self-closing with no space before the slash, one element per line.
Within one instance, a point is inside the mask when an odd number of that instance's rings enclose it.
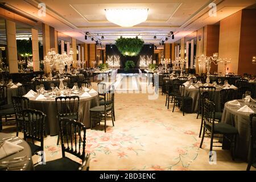
<path fill-rule="evenodd" d="M 185 97 L 192 97 L 192 113 L 196 113 L 199 109 L 199 87 L 195 86 L 195 89 L 189 89 L 188 86 L 185 86 Z M 222 88 L 216 88 L 214 103 L 216 105 L 216 112 L 221 111 L 221 102 L 220 102 L 220 91 Z"/>

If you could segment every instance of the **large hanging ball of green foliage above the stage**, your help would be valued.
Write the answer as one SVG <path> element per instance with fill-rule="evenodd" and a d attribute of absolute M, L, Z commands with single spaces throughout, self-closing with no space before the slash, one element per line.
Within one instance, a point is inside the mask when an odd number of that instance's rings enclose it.
<path fill-rule="evenodd" d="M 124 56 L 137 56 L 144 45 L 144 41 L 139 38 L 119 38 L 115 40 L 115 46 Z"/>

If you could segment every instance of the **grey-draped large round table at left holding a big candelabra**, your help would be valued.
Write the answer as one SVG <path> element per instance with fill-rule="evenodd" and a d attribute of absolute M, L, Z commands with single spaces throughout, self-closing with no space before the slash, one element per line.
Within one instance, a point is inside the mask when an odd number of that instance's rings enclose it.
<path fill-rule="evenodd" d="M 79 119 L 78 121 L 84 123 L 86 128 L 90 128 L 90 108 L 100 105 L 98 93 L 91 93 L 92 97 L 80 97 L 79 101 Z M 36 97 L 30 99 L 30 107 L 32 109 L 40 110 L 46 114 L 47 132 L 49 135 L 59 134 L 59 121 L 57 119 L 57 110 L 55 104 L 55 97 L 47 100 L 38 100 Z"/>

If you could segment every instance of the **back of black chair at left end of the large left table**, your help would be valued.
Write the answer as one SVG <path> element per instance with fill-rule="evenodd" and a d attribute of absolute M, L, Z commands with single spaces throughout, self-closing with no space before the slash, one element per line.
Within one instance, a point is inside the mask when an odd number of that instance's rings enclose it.
<path fill-rule="evenodd" d="M 23 117 L 23 110 L 29 109 L 29 99 L 27 97 L 11 97 L 16 119 Z"/>

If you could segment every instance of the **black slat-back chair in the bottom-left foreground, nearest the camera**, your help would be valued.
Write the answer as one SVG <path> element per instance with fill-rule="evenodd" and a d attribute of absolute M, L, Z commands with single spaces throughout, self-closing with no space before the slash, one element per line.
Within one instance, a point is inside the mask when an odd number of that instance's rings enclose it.
<path fill-rule="evenodd" d="M 86 127 L 75 119 L 59 120 L 62 158 L 35 167 L 36 171 L 89 170 L 89 154 L 85 155 Z M 68 158 L 65 153 L 82 160 L 82 164 Z"/>

